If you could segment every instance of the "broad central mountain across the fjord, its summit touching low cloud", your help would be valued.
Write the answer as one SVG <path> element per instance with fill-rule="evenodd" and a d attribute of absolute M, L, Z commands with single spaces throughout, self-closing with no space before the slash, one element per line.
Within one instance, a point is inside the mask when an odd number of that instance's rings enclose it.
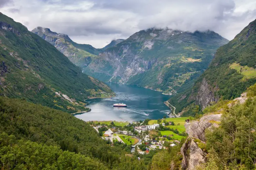
<path fill-rule="evenodd" d="M 212 31 L 142 30 L 107 48 L 83 70 L 102 81 L 172 91 L 191 84 L 227 42 Z"/>

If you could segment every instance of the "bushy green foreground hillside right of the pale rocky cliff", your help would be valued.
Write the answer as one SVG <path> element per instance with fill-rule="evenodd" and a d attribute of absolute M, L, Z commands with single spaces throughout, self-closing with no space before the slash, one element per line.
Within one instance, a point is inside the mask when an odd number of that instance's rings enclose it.
<path fill-rule="evenodd" d="M 247 90 L 247 100 L 220 100 L 204 109 L 205 114 L 222 114 L 219 126 L 206 130 L 207 162 L 203 169 L 255 169 L 256 84 Z M 215 122 L 216 123 L 216 122 Z"/>

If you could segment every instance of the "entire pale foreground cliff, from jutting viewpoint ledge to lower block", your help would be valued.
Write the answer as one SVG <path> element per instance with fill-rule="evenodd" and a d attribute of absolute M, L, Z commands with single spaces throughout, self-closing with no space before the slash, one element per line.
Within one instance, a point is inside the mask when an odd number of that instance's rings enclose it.
<path fill-rule="evenodd" d="M 185 124 L 189 137 L 181 148 L 181 154 L 183 156 L 182 169 L 193 170 L 197 165 L 206 162 L 206 153 L 203 148 L 200 148 L 205 143 L 204 131 L 212 126 L 217 127 L 220 118 L 221 114 L 206 115 L 199 121 Z"/>

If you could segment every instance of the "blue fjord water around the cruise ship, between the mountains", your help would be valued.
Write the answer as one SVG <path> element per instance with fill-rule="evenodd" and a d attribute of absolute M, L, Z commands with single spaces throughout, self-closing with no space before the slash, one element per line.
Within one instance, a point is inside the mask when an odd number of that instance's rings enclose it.
<path fill-rule="evenodd" d="M 88 108 L 92 111 L 75 117 L 84 121 L 139 121 L 160 119 L 167 116 L 170 109 L 163 103 L 170 96 L 161 92 L 126 84 L 107 83 L 116 97 L 90 99 Z M 125 103 L 127 108 L 113 107 L 114 103 Z M 149 114 L 149 116 L 147 116 Z"/>

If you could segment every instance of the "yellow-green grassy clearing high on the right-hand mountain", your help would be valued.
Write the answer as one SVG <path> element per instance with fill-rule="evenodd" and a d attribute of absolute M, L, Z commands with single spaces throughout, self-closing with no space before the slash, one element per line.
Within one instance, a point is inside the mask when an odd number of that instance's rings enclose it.
<path fill-rule="evenodd" d="M 241 66 L 239 63 L 232 63 L 229 66 L 230 69 L 235 69 L 238 73 L 241 73 L 244 78 L 242 80 L 251 79 L 256 77 L 256 70 L 248 66 Z"/>

